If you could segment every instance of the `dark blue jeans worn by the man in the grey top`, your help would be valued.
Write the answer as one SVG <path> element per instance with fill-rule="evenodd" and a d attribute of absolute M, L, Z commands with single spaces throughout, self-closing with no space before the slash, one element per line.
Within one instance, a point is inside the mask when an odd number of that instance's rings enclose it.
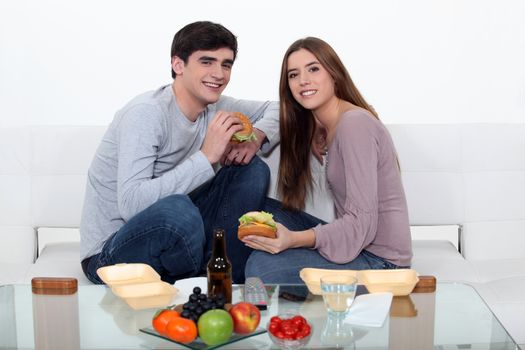
<path fill-rule="evenodd" d="M 171 195 L 135 215 L 104 244 L 102 252 L 82 262 L 87 278 L 102 283 L 99 267 L 118 263 L 146 263 L 162 280 L 206 272 L 214 228 L 226 231 L 233 280 L 244 282 L 244 267 L 252 252 L 237 238 L 239 217 L 261 210 L 270 170 L 259 157 L 250 164 L 224 167 L 214 179 L 190 195 Z"/>

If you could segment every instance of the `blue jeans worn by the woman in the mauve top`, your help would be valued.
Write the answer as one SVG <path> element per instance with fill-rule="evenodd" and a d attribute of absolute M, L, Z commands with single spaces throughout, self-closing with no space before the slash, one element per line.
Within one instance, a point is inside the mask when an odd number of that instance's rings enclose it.
<path fill-rule="evenodd" d="M 282 209 L 281 203 L 267 198 L 264 209 L 273 213 L 274 220 L 292 231 L 302 231 L 319 224 L 321 219 L 299 211 Z M 304 267 L 338 270 L 368 270 L 400 268 L 366 250 L 346 264 L 336 264 L 326 260 L 317 250 L 308 248 L 287 249 L 279 254 L 254 251 L 246 263 L 246 277 L 257 276 L 265 283 L 303 283 L 299 271 Z"/>

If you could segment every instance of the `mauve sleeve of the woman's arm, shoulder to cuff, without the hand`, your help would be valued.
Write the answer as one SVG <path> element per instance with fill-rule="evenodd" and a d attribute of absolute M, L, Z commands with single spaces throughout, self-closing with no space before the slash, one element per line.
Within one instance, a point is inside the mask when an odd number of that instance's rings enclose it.
<path fill-rule="evenodd" d="M 328 178 L 337 218 L 314 228 L 314 247 L 336 263 L 355 259 L 374 240 L 377 232 L 377 123 L 364 112 L 345 114 L 329 150 Z"/>

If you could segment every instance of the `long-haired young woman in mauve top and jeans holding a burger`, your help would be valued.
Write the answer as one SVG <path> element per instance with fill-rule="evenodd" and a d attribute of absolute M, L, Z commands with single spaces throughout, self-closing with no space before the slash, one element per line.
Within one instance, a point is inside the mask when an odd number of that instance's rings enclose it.
<path fill-rule="evenodd" d="M 276 239 L 247 236 L 246 277 L 300 282 L 303 267 L 410 266 L 408 211 L 392 139 L 330 45 L 308 37 L 286 52 L 280 81 L 282 203 L 267 199 Z M 312 189 L 312 141 L 325 136 L 335 220 L 301 212 Z M 315 148 L 315 147 L 314 147 Z"/>

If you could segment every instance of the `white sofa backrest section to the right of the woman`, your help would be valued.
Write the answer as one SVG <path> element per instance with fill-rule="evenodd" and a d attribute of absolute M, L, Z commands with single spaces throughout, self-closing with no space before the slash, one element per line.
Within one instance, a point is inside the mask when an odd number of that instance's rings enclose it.
<path fill-rule="evenodd" d="M 467 259 L 525 257 L 525 124 L 390 125 L 412 224 L 459 224 Z"/>

